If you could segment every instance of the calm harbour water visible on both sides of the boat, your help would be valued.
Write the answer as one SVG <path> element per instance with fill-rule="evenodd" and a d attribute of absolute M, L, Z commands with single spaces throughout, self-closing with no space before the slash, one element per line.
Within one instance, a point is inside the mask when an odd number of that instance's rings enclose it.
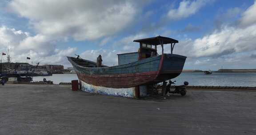
<path fill-rule="evenodd" d="M 78 79 L 76 74 L 53 74 L 52 76 L 36 76 L 33 81 L 53 81 L 54 84 L 60 82 L 69 83 L 71 80 Z M 176 80 L 176 85 L 188 81 L 189 85 L 195 86 L 242 86 L 256 87 L 256 73 L 244 72 L 213 72 L 211 75 L 205 75 L 203 72 L 182 72 Z"/>

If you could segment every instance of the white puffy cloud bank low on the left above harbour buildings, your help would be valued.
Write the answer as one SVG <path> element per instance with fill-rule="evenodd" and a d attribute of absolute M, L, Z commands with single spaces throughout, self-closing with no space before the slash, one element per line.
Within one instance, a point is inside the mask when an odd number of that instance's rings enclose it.
<path fill-rule="evenodd" d="M 10 48 L 11 62 L 25 62 L 27 57 L 31 57 L 30 61 L 35 63 L 69 65 L 65 56 L 72 55 L 76 48 L 57 49 L 54 43 L 47 36 L 30 36 L 28 32 L 0 27 L 0 51 L 7 53 Z M 3 62 L 6 61 L 3 57 Z"/>

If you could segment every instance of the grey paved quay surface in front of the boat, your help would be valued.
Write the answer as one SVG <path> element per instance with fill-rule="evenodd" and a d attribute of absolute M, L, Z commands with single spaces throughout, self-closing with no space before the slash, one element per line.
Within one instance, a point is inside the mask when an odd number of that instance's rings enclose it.
<path fill-rule="evenodd" d="M 128 99 L 70 86 L 0 86 L 0 135 L 256 135 L 256 92 Z"/>

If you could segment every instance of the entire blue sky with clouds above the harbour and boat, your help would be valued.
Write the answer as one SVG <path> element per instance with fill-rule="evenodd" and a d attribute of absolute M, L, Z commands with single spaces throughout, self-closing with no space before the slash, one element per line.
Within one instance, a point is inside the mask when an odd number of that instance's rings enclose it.
<path fill-rule="evenodd" d="M 159 35 L 179 40 L 185 69 L 256 68 L 256 1 L 0 1 L 0 52 L 9 44 L 12 62 L 70 67 L 65 56 L 101 54 L 111 66 L 116 54 L 137 51 L 133 40 Z"/>

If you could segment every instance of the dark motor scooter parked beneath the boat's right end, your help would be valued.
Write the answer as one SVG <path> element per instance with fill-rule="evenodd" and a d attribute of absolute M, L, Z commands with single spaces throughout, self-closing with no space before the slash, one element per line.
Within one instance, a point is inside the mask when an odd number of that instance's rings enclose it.
<path fill-rule="evenodd" d="M 174 81 L 174 82 L 176 82 L 176 81 Z M 170 87 L 171 87 L 172 84 L 175 84 L 174 82 L 169 80 L 169 83 L 166 86 L 167 91 L 166 91 L 165 94 L 167 94 L 169 92 L 169 93 L 177 93 L 177 94 L 180 94 L 182 96 L 186 95 L 186 93 L 187 93 L 186 86 L 188 85 L 188 82 L 185 81 L 183 85 L 175 86 L 174 91 L 171 91 Z"/>

